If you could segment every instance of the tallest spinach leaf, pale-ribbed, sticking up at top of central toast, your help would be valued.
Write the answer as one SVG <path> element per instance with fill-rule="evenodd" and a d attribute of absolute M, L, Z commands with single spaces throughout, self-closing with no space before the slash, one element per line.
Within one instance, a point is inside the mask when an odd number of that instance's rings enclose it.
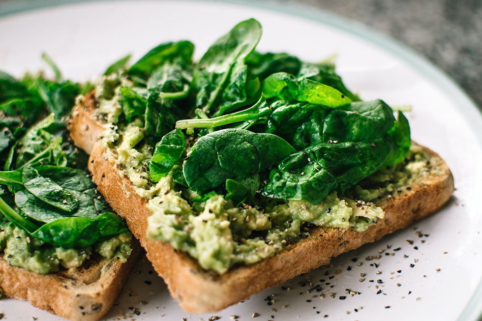
<path fill-rule="evenodd" d="M 261 32 L 259 22 L 245 20 L 211 45 L 194 71 L 191 86 L 196 94 L 196 108 L 217 113 L 220 103 L 226 108 L 246 100 L 244 61 L 258 44 Z"/>

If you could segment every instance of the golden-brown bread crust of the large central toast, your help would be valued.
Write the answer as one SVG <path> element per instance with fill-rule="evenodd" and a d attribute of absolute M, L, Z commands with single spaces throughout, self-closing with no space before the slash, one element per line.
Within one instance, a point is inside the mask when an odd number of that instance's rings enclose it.
<path fill-rule="evenodd" d="M 90 153 L 89 169 L 98 190 L 127 224 L 146 249 L 154 269 L 166 282 L 172 296 L 187 312 L 215 312 L 250 295 L 279 285 L 301 273 L 328 264 L 332 257 L 373 242 L 382 236 L 410 225 L 414 220 L 434 213 L 453 192 L 453 177 L 445 162 L 435 152 L 422 147 L 431 158 L 437 158 L 439 170 L 411 184 L 396 197 L 377 202 L 385 218 L 364 232 L 334 228 L 314 228 L 310 237 L 288 246 L 283 252 L 259 263 L 238 266 L 224 274 L 203 270 L 185 253 L 169 243 L 146 236 L 151 212 L 126 176 L 119 175 L 116 164 L 106 156 L 107 150 L 96 141 L 104 125 L 91 117 L 95 109 L 92 94 L 82 106 L 76 106 L 69 124 L 77 146 Z M 130 195 L 129 198 L 126 195 Z"/>

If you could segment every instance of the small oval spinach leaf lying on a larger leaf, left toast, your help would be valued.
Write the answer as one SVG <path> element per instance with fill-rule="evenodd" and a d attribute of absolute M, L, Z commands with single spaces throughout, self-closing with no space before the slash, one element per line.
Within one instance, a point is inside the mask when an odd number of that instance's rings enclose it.
<path fill-rule="evenodd" d="M 25 166 L 22 174 L 25 188 L 45 203 L 67 212 L 73 212 L 79 207 L 79 200 L 72 193 L 52 179 L 40 176 L 34 168 Z"/>

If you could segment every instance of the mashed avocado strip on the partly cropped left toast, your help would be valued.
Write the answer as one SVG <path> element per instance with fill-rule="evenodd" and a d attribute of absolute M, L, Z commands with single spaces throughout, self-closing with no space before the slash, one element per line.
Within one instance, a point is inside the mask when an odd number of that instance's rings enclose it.
<path fill-rule="evenodd" d="M 103 259 L 119 258 L 126 262 L 132 249 L 129 244 L 131 233 L 121 233 L 108 240 L 98 241 L 92 248 L 83 250 L 63 249 L 53 247 L 12 224 L 0 230 L 0 252 L 3 258 L 14 266 L 21 266 L 26 270 L 39 274 L 56 272 L 63 268 L 81 266 L 94 253 Z"/>

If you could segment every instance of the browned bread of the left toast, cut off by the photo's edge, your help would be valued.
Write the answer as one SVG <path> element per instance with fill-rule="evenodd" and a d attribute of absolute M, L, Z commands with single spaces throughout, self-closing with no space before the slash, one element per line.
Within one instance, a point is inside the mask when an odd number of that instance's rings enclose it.
<path fill-rule="evenodd" d="M 62 318 L 99 320 L 114 304 L 137 261 L 139 243 L 133 240 L 130 246 L 126 263 L 116 258 L 87 260 L 78 268 L 49 274 L 12 266 L 1 255 L 0 288 L 6 296 L 30 301 Z"/>

